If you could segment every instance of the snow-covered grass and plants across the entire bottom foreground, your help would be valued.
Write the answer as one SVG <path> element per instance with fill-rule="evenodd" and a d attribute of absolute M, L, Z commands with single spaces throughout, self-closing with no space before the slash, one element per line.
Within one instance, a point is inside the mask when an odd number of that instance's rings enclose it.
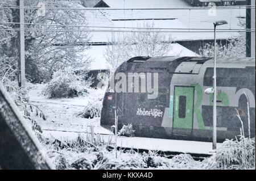
<path fill-rule="evenodd" d="M 98 134 L 92 141 L 90 134 L 84 134 L 72 140 L 51 136 L 42 143 L 56 169 L 255 169 L 253 165 L 243 167 L 241 141 L 227 140 L 212 157 L 195 161 L 189 154 L 167 158 L 157 151 L 138 153 L 137 149 L 119 149 L 115 156 L 114 142 L 109 140 Z M 250 156 L 254 154 L 252 151 Z"/>

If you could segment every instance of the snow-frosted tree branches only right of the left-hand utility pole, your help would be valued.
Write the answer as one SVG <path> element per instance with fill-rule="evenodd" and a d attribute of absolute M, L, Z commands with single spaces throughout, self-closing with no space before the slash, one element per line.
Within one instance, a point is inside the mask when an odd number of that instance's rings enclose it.
<path fill-rule="evenodd" d="M 36 6 L 38 2 L 25 1 L 27 6 Z M 82 7 L 80 1 L 50 0 L 45 3 L 50 7 Z M 35 70 L 35 67 L 42 77 L 48 78 L 47 75 L 68 66 L 73 68 L 88 66 L 90 60 L 84 52 L 89 49 L 90 35 L 85 32 L 88 30 L 87 27 L 78 27 L 78 25 L 87 24 L 86 12 L 47 9 L 45 16 L 39 17 L 37 13 L 37 10 L 26 11 L 26 22 L 31 23 L 26 27 L 40 29 L 40 31 L 26 31 L 27 62 L 29 63 L 31 60 L 27 69 L 32 71 Z M 47 26 L 39 24 L 47 24 Z M 35 76 L 35 74 L 36 72 L 32 75 Z M 39 79 L 42 78 L 39 77 Z"/>

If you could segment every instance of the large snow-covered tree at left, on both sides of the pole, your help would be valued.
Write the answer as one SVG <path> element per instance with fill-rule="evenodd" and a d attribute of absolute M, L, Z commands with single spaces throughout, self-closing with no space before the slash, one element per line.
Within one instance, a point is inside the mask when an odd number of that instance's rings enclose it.
<path fill-rule="evenodd" d="M 8 0 L 2 6 L 18 5 L 16 0 Z M 37 6 L 44 3 L 47 7 L 64 7 L 65 9 L 46 9 L 46 13 L 39 15 L 38 9 L 25 9 L 25 50 L 26 50 L 26 78 L 32 81 L 49 79 L 52 73 L 69 66 L 73 68 L 87 67 L 90 58 L 86 56 L 90 40 L 86 25 L 86 11 L 69 10 L 68 8 L 82 8 L 80 1 L 39 1 L 25 0 L 24 6 Z M 18 9 L 1 9 L 1 21 L 19 22 Z M 3 20 L 2 20 L 3 19 Z M 67 26 L 68 25 L 68 26 Z M 73 26 L 72 26 L 73 25 Z M 19 28 L 19 24 L 1 24 L 4 28 Z M 77 31 L 79 30 L 79 31 Z M 9 36 L 7 36 L 9 35 Z M 19 44 L 16 31 L 1 31 L 1 60 L 2 57 L 13 58 L 18 62 Z M 5 37 L 5 39 L 2 39 Z M 10 37 L 10 38 L 9 38 Z"/>

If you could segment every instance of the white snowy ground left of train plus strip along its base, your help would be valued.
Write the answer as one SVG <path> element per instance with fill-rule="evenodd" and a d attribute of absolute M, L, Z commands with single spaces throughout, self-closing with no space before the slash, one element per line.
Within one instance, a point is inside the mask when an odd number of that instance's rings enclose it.
<path fill-rule="evenodd" d="M 94 133 L 101 134 L 106 141 L 114 142 L 113 134 L 100 126 L 100 118 L 85 119 L 77 117 L 83 107 L 88 103 L 88 98 L 61 98 L 47 99 L 40 94 L 44 85 L 36 85 L 37 89 L 32 89 L 30 99 L 46 115 L 46 120 L 40 121 L 45 137 L 54 137 L 59 140 L 75 140 L 80 134 L 86 137 L 90 133 L 90 126 L 94 127 Z M 105 135 L 108 134 L 108 135 Z M 218 144 L 220 146 L 221 144 Z M 141 138 L 141 137 L 118 137 L 117 146 L 121 148 L 176 151 L 179 153 L 198 153 L 209 154 L 212 148 L 210 142 L 199 141 L 182 141 L 182 140 L 165 140 L 158 138 Z"/>

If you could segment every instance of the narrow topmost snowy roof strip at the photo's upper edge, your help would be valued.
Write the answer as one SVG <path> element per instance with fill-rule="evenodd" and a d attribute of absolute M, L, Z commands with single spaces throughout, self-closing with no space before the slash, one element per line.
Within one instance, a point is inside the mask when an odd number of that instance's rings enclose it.
<path fill-rule="evenodd" d="M 184 0 L 103 0 L 110 8 L 189 7 Z"/>

